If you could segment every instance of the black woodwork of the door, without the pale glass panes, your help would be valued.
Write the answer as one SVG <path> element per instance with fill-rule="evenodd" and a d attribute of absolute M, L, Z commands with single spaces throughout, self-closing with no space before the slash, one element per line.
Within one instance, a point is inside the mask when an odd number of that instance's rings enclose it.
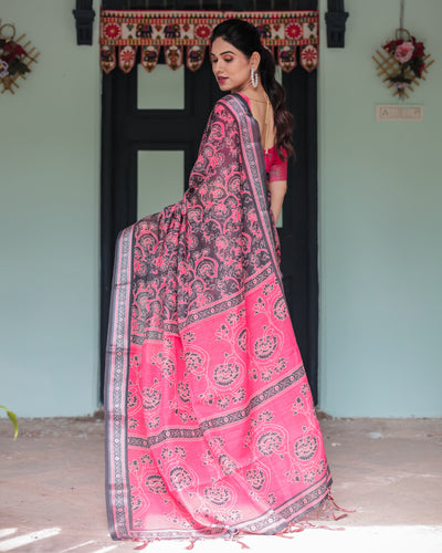
<path fill-rule="evenodd" d="M 309 1 L 309 4 L 296 9 L 315 9 L 312 4 L 316 7 L 317 0 Z M 128 74 L 115 69 L 108 75 L 103 75 L 99 340 L 102 400 L 114 246 L 119 230 L 135 222 L 137 217 L 137 150 L 183 149 L 185 174 L 186 179 L 188 178 L 210 108 L 220 97 L 218 85 L 207 76 L 207 60 L 204 66 L 206 71 L 200 70 L 194 73 L 185 70 L 185 109 L 137 109 L 136 69 Z M 283 85 L 287 92 L 287 107 L 295 116 L 296 161 L 291 160 L 288 164 L 288 191 L 283 207 L 284 226 L 280 229 L 282 272 L 292 322 L 316 404 L 318 392 L 316 71 L 308 73 L 297 66 L 291 73 L 283 75 Z M 199 117 L 193 116 L 197 112 Z M 193 122 L 190 137 L 189 118 Z M 146 135 L 147 128 L 152 129 L 152 133 Z M 139 138 L 134 139 L 134 136 Z M 119 159 L 118 164 L 115 164 L 116 159 Z"/>

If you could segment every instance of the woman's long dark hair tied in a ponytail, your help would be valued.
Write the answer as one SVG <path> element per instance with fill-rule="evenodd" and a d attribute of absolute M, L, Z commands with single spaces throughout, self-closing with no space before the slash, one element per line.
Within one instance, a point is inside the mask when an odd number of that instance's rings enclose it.
<path fill-rule="evenodd" d="M 262 85 L 269 95 L 274 113 L 276 131 L 276 150 L 287 157 L 294 154 L 292 146 L 293 115 L 285 107 L 285 91 L 275 80 L 275 61 L 272 53 L 263 46 L 257 29 L 242 19 L 228 19 L 213 29 L 211 44 L 215 39 L 223 39 L 240 50 L 248 59 L 253 52 L 261 55 L 259 73 Z"/>

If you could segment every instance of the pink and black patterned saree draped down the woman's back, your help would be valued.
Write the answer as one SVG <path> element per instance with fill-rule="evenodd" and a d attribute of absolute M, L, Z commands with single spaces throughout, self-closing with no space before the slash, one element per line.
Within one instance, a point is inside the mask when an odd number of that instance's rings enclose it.
<path fill-rule="evenodd" d="M 183 199 L 118 237 L 105 409 L 116 540 L 277 533 L 328 495 L 239 95 L 215 104 Z"/>

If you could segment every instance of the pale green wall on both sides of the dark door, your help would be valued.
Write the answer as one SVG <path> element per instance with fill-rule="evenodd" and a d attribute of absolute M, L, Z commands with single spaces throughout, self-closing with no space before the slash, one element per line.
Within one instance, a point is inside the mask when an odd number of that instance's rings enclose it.
<path fill-rule="evenodd" d="M 15 95 L 0 95 L 0 404 L 20 416 L 98 406 L 97 17 L 94 45 L 77 46 L 74 4 L 0 4 L 41 52 Z M 344 50 L 327 50 L 322 29 L 320 407 L 441 416 L 442 2 L 406 2 L 406 27 L 435 59 L 406 102 L 424 106 L 422 123 L 375 121 L 376 104 L 397 103 L 371 55 L 398 27 L 399 0 L 346 8 Z"/>

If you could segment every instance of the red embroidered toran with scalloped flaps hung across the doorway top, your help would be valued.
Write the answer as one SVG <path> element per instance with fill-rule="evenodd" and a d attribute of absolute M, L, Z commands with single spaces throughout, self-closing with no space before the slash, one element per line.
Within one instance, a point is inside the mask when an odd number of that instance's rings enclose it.
<path fill-rule="evenodd" d="M 240 18 L 253 23 L 263 44 L 275 54 L 283 71 L 299 64 L 306 71 L 318 65 L 317 11 L 155 11 L 102 10 L 99 25 L 101 64 L 105 73 L 117 65 L 128 73 L 135 65 L 137 50 L 146 71 L 154 71 L 160 49 L 170 69 L 183 63 L 197 71 L 204 60 L 212 29 L 224 19 Z M 183 52 L 186 46 L 186 52 Z M 275 52 L 277 50 L 277 53 Z"/>

